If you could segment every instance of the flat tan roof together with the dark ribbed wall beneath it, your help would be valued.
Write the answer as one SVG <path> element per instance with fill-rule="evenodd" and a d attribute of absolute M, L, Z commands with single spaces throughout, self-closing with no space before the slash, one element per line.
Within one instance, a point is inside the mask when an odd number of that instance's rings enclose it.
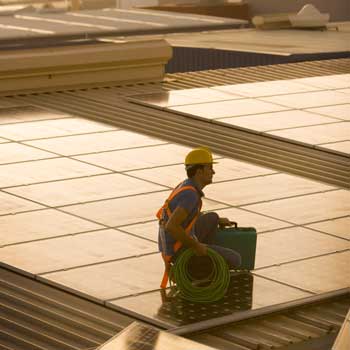
<path fill-rule="evenodd" d="M 350 56 L 349 26 L 344 22 L 332 24 L 327 31 L 247 28 L 147 37 L 170 43 L 173 57 L 166 72 L 175 73 L 346 58 Z"/>

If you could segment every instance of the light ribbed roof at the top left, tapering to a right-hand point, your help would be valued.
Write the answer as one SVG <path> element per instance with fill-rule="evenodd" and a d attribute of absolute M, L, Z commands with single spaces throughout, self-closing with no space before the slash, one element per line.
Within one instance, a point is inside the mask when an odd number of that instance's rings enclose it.
<path fill-rule="evenodd" d="M 246 24 L 247 21 L 229 18 L 140 9 L 62 13 L 24 11 L 1 16 L 0 42 L 2 47 L 23 48 L 103 36 L 202 31 Z"/>

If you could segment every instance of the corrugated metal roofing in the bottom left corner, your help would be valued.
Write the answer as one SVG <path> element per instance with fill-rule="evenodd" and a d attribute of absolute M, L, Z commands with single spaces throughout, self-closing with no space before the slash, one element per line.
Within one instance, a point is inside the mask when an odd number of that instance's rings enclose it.
<path fill-rule="evenodd" d="M 133 321 L 0 268 L 0 349 L 96 348 Z"/>

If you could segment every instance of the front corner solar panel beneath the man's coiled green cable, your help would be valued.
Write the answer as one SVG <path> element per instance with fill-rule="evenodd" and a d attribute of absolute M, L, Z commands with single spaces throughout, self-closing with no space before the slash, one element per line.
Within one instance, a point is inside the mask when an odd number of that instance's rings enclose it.
<path fill-rule="evenodd" d="M 167 289 L 116 299 L 110 304 L 112 307 L 115 305 L 136 312 L 164 327 L 174 327 L 289 302 L 309 295 L 291 286 L 241 272 L 231 276 L 225 296 L 212 303 L 186 301 Z"/>

